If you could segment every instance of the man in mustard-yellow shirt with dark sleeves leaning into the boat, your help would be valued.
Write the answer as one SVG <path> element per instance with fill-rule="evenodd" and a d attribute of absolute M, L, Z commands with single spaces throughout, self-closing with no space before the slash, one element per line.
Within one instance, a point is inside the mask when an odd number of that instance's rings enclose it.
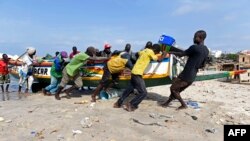
<path fill-rule="evenodd" d="M 119 75 L 126 67 L 130 70 L 133 68 L 133 64 L 130 60 L 130 57 L 126 57 L 127 56 L 122 57 L 119 51 L 114 51 L 112 53 L 111 58 L 108 60 L 107 63 L 104 64 L 104 73 L 102 75 L 102 80 L 93 92 L 91 96 L 91 102 L 96 102 L 96 96 L 100 93 L 103 87 L 105 87 L 105 89 L 111 87 L 111 85 L 109 85 L 110 76 L 112 77 L 111 84 L 115 85 L 116 83 L 118 83 Z"/>

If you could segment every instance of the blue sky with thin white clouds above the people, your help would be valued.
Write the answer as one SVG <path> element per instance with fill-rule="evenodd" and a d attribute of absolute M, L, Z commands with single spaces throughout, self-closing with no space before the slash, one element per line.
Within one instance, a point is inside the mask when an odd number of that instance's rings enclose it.
<path fill-rule="evenodd" d="M 0 0 L 0 52 L 37 55 L 88 46 L 133 51 L 162 34 L 187 49 L 205 30 L 211 50 L 250 50 L 249 0 Z"/>

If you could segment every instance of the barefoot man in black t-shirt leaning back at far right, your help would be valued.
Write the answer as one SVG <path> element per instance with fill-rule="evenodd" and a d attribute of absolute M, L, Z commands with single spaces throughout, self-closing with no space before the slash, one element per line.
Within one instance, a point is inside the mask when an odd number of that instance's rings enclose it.
<path fill-rule="evenodd" d="M 194 44 L 191 45 L 187 50 L 169 52 L 170 54 L 174 54 L 179 57 L 188 56 L 188 60 L 184 70 L 177 78 L 173 79 L 172 85 L 170 87 L 171 94 L 169 99 L 162 104 L 163 107 L 169 106 L 171 101 L 177 99 L 181 103 L 181 106 L 178 109 L 187 108 L 187 105 L 181 98 L 180 93 L 194 82 L 198 69 L 204 67 L 209 54 L 208 48 L 204 45 L 206 36 L 207 35 L 204 30 L 199 30 L 194 34 Z"/>

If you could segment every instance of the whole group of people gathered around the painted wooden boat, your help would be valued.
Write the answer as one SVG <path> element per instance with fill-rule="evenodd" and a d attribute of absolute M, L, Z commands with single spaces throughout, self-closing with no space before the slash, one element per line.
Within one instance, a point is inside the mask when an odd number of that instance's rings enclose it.
<path fill-rule="evenodd" d="M 145 82 L 143 80 L 143 73 L 150 63 L 150 60 L 162 61 L 167 53 L 174 54 L 176 56 L 188 56 L 187 63 L 184 70 L 179 74 L 178 77 L 173 78 L 172 85 L 170 87 L 170 96 L 162 104 L 163 107 L 170 105 L 171 101 L 177 99 L 181 106 L 178 109 L 187 108 L 186 103 L 183 101 L 180 93 L 189 87 L 195 80 L 198 69 L 204 66 L 206 59 L 208 57 L 208 49 L 204 45 L 206 39 L 206 32 L 204 30 L 199 30 L 195 32 L 193 38 L 193 45 L 191 45 L 187 50 L 183 51 L 177 49 L 173 46 L 167 47 L 164 44 L 152 44 L 152 42 L 147 42 L 143 50 L 136 53 L 136 59 L 131 56 L 131 45 L 126 44 L 123 51 L 111 52 L 111 46 L 105 44 L 104 50 L 99 51 L 94 47 L 88 47 L 85 52 L 80 52 L 76 47 L 73 47 L 73 52 L 69 55 L 70 62 L 66 63 L 65 58 L 68 57 L 65 51 L 59 52 L 55 56 L 53 65 L 51 67 L 51 84 L 43 89 L 45 95 L 54 94 L 57 100 L 60 100 L 60 93 L 65 92 L 67 97 L 70 98 L 70 92 L 76 88 L 81 88 L 83 86 L 80 68 L 87 63 L 87 61 L 96 60 L 106 60 L 104 63 L 104 74 L 99 85 L 94 90 L 91 95 L 91 101 L 96 102 L 96 96 L 100 93 L 102 89 L 107 89 L 112 85 L 118 83 L 118 76 L 125 69 L 131 70 L 131 80 L 128 87 L 124 90 L 122 96 L 114 103 L 114 108 L 124 107 L 125 110 L 131 112 L 139 107 L 139 104 L 147 96 L 147 89 Z M 29 48 L 27 50 L 26 56 L 23 57 L 22 69 L 20 73 L 19 81 L 19 92 L 25 81 L 32 82 L 32 57 L 35 55 L 36 50 L 34 48 Z M 160 54 L 160 55 L 159 55 Z M 8 56 L 3 54 L 3 59 L 0 61 L 0 85 L 2 91 L 4 92 L 3 83 L 6 83 L 5 91 L 8 92 L 9 87 L 9 77 L 8 69 L 6 64 L 8 64 Z M 111 82 L 109 83 L 111 77 Z M 74 81 L 74 85 L 64 90 L 65 86 L 70 80 Z M 28 83 L 26 92 L 30 89 L 32 83 Z M 124 103 L 124 100 L 136 89 L 138 94 L 128 103 Z"/>

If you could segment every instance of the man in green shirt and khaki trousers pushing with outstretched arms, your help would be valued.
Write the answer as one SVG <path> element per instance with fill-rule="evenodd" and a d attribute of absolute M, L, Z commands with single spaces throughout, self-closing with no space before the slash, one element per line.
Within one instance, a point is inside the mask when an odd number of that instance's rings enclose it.
<path fill-rule="evenodd" d="M 67 95 L 67 98 L 70 98 L 69 93 L 76 89 L 81 88 L 83 86 L 82 77 L 80 74 L 80 68 L 87 63 L 88 60 L 104 60 L 106 57 L 96 57 L 96 49 L 94 47 L 88 47 L 86 52 L 80 52 L 77 54 L 69 64 L 63 69 L 62 73 L 62 81 L 59 84 L 58 90 L 56 91 L 55 98 L 57 100 L 61 100 L 60 93 L 64 89 L 64 87 L 68 84 L 70 80 L 74 81 L 74 85 L 70 88 L 66 89 L 64 92 Z"/>

